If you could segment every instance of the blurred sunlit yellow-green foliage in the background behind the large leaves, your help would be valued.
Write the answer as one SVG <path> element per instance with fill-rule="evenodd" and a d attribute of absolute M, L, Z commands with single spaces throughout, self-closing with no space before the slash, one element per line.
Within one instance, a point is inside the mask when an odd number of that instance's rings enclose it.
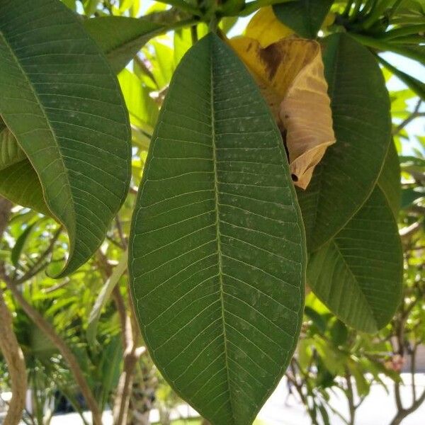
<path fill-rule="evenodd" d="M 50 266 L 52 273 L 60 271 L 68 249 L 62 227 L 33 210 L 14 207 L 0 245 L 2 268 L 18 285 L 23 299 L 52 325 L 55 333 L 78 358 L 101 410 L 114 406 L 119 382 L 125 380 L 123 372 L 127 371 L 132 381 L 130 393 L 126 395 L 130 405 L 128 422 L 142 423 L 149 410 L 156 408 L 161 414 L 161 423 L 167 424 L 170 409 L 182 401 L 158 373 L 147 352 L 137 351 L 143 343 L 130 314 L 127 276 L 113 275 L 113 268 L 124 261 L 137 187 L 169 81 L 186 50 L 196 38 L 207 32 L 207 26 L 195 23 L 191 28 L 173 29 L 181 26 L 181 20 L 191 19 L 191 6 L 186 4 L 186 10 L 183 10 L 180 1 L 175 5 L 180 8 L 157 2 L 143 4 L 138 0 L 86 0 L 82 3 L 67 0 L 64 3 L 81 13 L 82 19 L 86 16 L 150 15 L 152 31 L 159 34 L 139 52 L 135 51 L 135 59 L 127 67 L 124 68 L 120 61 L 114 65 L 115 70 L 122 69 L 118 80 L 132 128 L 130 193 L 108 229 L 101 249 L 77 273 L 61 280 L 48 278 L 44 271 L 49 263 L 53 264 Z M 336 1 L 333 8 L 339 11 L 344 6 L 345 2 Z M 250 12 L 247 7 L 241 14 L 249 16 Z M 392 18 L 392 23 L 423 25 L 425 6 L 421 1 L 404 1 Z M 424 30 L 417 35 L 402 34 L 380 40 L 379 37 L 373 38 L 373 34 L 380 30 L 379 22 L 375 21 L 374 26 L 364 30 L 361 16 L 356 18 L 353 14 L 344 19 L 347 21 L 341 24 L 357 34 L 358 40 L 373 48 L 374 52 L 407 53 L 408 57 L 424 63 L 423 52 L 409 50 L 409 43 L 417 42 L 417 37 L 422 37 L 421 42 L 424 42 Z M 222 30 L 230 35 L 242 33 L 245 25 L 246 21 L 239 18 L 238 22 L 236 16 L 227 16 L 220 23 Z M 301 28 L 302 25 L 301 22 Z M 118 38 L 119 32 L 110 41 Z M 106 47 L 113 50 L 113 45 Z M 392 136 L 402 169 L 402 205 L 397 221 L 404 250 L 403 302 L 390 324 L 378 334 L 369 335 L 347 327 L 312 293 L 307 296 L 302 336 L 286 376 L 314 424 L 327 424 L 332 414 L 339 414 L 333 412 L 329 404 L 330 393 L 336 388 L 341 389 L 346 397 L 349 416 L 344 419 L 347 424 L 354 424 L 356 410 L 368 397 L 370 385 L 375 382 L 388 385 L 383 376 L 390 378 L 396 395 L 392 402 L 397 407 L 397 416 L 392 424 L 398 424 L 425 399 L 425 392 L 419 390 L 414 390 L 409 406 L 402 405 L 397 397 L 402 385 L 400 370 L 409 365 L 412 375 L 416 373 L 416 353 L 425 342 L 425 110 L 422 98 L 418 96 L 423 94 L 424 85 L 389 64 L 401 63 L 399 57 L 392 54 L 383 57 L 387 61 L 382 61 L 382 72 L 390 90 Z M 418 69 L 423 72 L 423 67 Z M 112 288 L 111 280 L 118 283 L 115 288 Z M 81 402 L 78 385 L 63 353 L 51 343 L 37 321 L 28 317 L 21 302 L 10 292 L 6 292 L 6 302 L 14 314 L 13 325 L 26 357 L 32 390 L 33 410 L 26 412 L 24 421 L 28 424 L 48 423 L 54 410 L 60 405 L 63 408 L 62 397 L 73 409 L 82 412 L 86 406 Z M 0 375 L 4 377 L 0 389 L 6 391 L 9 387 L 8 370 L 1 361 Z"/>

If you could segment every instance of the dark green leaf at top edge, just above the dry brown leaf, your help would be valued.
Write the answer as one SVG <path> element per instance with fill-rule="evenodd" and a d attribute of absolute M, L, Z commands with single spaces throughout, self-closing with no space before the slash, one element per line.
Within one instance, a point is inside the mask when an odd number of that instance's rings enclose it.
<path fill-rule="evenodd" d="M 294 0 L 274 4 L 273 12 L 297 35 L 316 38 L 334 0 Z"/>

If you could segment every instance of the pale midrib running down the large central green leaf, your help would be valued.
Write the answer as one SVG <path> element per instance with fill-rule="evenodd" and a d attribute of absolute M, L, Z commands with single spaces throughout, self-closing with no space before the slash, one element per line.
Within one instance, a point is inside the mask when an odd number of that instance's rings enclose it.
<path fill-rule="evenodd" d="M 215 229 L 217 239 L 217 254 L 218 254 L 218 279 L 220 282 L 220 302 L 222 310 L 222 323 L 223 323 L 223 339 L 225 348 L 225 366 L 227 373 L 227 387 L 229 390 L 229 403 L 232 408 L 232 418 L 234 420 L 234 409 L 232 402 L 232 392 L 230 389 L 230 376 L 229 376 L 229 361 L 228 361 L 228 349 L 227 349 L 227 336 L 226 336 L 226 320 L 225 320 L 225 299 L 224 299 L 224 283 L 223 283 L 223 271 L 222 271 L 222 251 L 221 251 L 221 237 L 220 237 L 220 209 L 219 209 L 219 191 L 218 191 L 218 174 L 217 174 L 217 148 L 215 146 L 215 108 L 214 108 L 214 67 L 213 67 L 213 48 L 210 49 L 210 106 L 211 106 L 211 140 L 212 140 L 212 164 L 214 166 L 214 198 L 215 198 Z"/>

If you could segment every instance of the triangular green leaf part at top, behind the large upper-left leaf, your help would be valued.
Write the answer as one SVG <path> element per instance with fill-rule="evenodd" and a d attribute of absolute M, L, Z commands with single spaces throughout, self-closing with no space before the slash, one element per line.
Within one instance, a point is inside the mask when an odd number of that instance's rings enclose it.
<path fill-rule="evenodd" d="M 146 42 L 165 30 L 157 23 L 125 16 L 86 19 L 84 28 L 96 40 L 117 74 Z"/>

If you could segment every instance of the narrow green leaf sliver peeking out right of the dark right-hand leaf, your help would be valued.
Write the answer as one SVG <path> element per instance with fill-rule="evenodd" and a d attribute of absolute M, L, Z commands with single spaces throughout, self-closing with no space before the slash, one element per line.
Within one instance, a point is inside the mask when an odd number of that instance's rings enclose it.
<path fill-rule="evenodd" d="M 396 219 L 402 202 L 402 182 L 400 175 L 400 163 L 397 149 L 393 142 L 388 147 L 384 166 L 378 179 L 378 185 L 385 197 Z"/>

